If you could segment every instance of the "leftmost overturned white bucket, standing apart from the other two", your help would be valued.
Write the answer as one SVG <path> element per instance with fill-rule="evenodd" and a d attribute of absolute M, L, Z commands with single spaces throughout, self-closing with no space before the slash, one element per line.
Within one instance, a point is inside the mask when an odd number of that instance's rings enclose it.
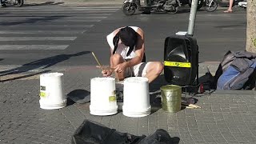
<path fill-rule="evenodd" d="M 60 109 L 66 106 L 63 94 L 62 73 L 40 75 L 40 108 L 46 110 Z"/>

